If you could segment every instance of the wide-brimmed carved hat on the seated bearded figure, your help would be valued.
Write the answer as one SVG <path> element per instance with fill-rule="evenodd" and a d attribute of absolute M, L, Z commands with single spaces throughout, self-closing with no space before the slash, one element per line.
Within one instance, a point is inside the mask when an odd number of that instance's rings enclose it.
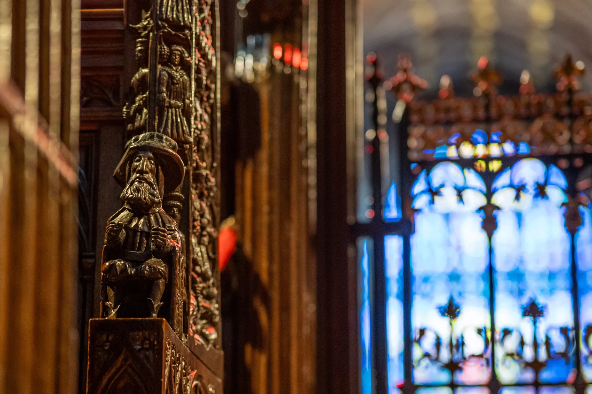
<path fill-rule="evenodd" d="M 177 154 L 177 143 L 162 133 L 143 133 L 127 141 L 126 153 L 113 173 L 121 186 L 126 186 L 128 162 L 136 152 L 149 151 L 161 162 L 161 170 L 165 175 L 165 193 L 172 192 L 183 183 L 185 166 L 181 156 Z"/>

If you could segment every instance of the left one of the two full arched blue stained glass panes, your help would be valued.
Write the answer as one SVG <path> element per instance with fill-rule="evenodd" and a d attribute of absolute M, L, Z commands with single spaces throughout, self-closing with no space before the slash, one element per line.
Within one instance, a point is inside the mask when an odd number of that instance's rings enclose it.
<path fill-rule="evenodd" d="M 451 162 L 436 164 L 428 177 L 435 196 L 416 204 L 411 237 L 413 380 L 483 384 L 491 374 L 489 253 L 477 210 L 487 199 L 472 187 L 481 189 L 482 179 L 471 173 L 467 182 L 462 168 Z M 447 312 L 449 305 L 456 312 Z"/>

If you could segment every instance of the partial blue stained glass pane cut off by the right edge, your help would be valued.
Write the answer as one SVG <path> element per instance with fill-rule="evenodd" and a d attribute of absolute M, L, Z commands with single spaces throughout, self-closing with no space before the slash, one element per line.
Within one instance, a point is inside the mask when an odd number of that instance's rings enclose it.
<path fill-rule="evenodd" d="M 581 206 L 582 224 L 575 233 L 578 295 L 580 296 L 581 365 L 592 382 L 592 207 Z"/>

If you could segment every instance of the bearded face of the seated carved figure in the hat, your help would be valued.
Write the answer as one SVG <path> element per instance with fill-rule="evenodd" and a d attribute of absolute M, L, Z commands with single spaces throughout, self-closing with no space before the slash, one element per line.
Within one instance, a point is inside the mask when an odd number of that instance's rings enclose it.
<path fill-rule="evenodd" d="M 160 193 L 156 181 L 158 169 L 156 158 L 149 151 L 140 151 L 131 161 L 130 178 L 121 192 L 121 199 L 131 204 L 151 207 L 160 204 Z"/>

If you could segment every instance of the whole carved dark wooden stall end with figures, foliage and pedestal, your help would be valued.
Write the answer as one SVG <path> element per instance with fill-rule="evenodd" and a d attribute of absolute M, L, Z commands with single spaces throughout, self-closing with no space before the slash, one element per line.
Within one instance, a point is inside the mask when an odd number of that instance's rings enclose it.
<path fill-rule="evenodd" d="M 86 392 L 221 393 L 217 2 L 130 0 L 123 19 L 136 68 L 108 169 L 123 191 L 96 261 Z"/>

